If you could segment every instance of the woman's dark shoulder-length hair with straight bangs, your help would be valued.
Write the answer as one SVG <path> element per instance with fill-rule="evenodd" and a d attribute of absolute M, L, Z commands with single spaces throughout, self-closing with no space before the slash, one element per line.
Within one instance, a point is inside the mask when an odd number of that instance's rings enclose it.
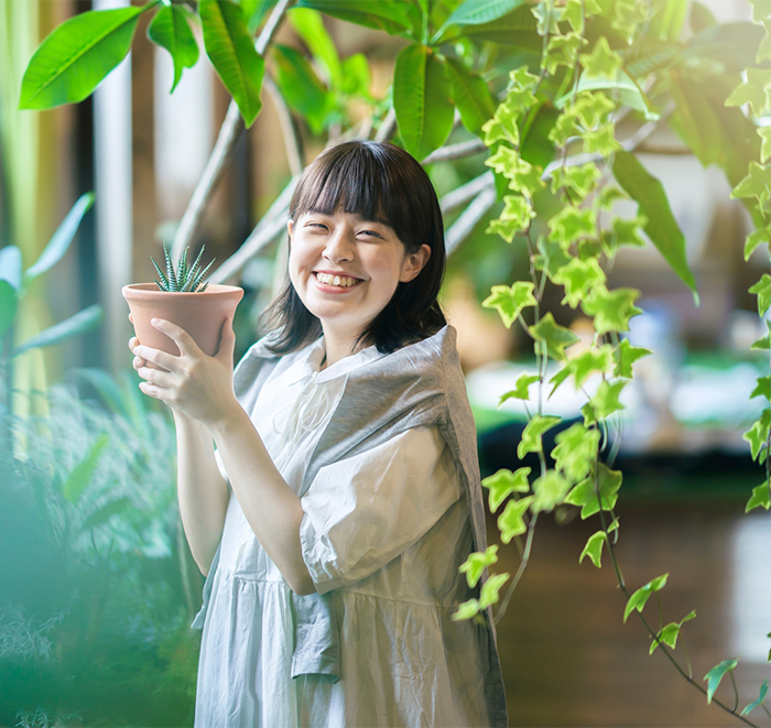
<path fill-rule="evenodd" d="M 431 248 L 423 270 L 412 281 L 399 283 L 357 344 L 374 344 L 390 354 L 436 334 L 446 324 L 436 300 L 445 269 L 444 224 L 425 170 L 388 142 L 356 140 L 330 146 L 303 172 L 290 203 L 290 219 L 310 211 L 332 215 L 339 207 L 369 220 L 384 216 L 408 254 L 424 243 Z M 269 348 L 275 354 L 296 351 L 322 335 L 322 323 L 305 307 L 289 276 L 261 320 L 273 334 Z"/>

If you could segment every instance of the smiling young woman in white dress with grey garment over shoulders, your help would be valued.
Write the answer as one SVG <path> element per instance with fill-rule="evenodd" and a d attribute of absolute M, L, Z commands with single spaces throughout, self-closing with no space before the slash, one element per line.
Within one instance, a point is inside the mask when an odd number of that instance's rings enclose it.
<path fill-rule="evenodd" d="M 270 333 L 235 373 L 231 322 L 216 357 L 163 320 L 180 357 L 130 343 L 142 391 L 173 409 L 208 574 L 196 726 L 504 728 L 489 611 L 453 619 L 486 537 L 431 181 L 392 144 L 338 144 L 289 232 Z"/>

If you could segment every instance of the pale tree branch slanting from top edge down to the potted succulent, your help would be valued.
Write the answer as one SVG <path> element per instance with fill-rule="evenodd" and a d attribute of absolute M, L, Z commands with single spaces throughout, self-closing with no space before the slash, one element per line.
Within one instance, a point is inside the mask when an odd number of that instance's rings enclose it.
<path fill-rule="evenodd" d="M 268 45 L 273 40 L 275 31 L 283 20 L 284 14 L 294 1 L 295 0 L 279 0 L 279 3 L 273 9 L 273 12 L 268 19 L 265 26 L 262 29 L 262 32 L 254 44 L 254 48 L 260 55 L 264 54 Z M 225 117 L 222 126 L 219 129 L 217 141 L 215 142 L 211 154 L 206 162 L 204 173 L 193 191 L 193 197 L 191 197 L 187 209 L 182 216 L 180 226 L 176 229 L 174 242 L 172 243 L 172 260 L 178 261 L 180 257 L 182 256 L 182 251 L 191 243 L 191 240 L 193 239 L 200 224 L 206 203 L 208 203 L 209 198 L 211 197 L 211 193 L 222 178 L 225 166 L 230 161 L 234 150 L 236 149 L 238 138 L 242 131 L 243 119 L 241 119 L 238 105 L 236 101 L 230 101 L 228 112 Z"/>

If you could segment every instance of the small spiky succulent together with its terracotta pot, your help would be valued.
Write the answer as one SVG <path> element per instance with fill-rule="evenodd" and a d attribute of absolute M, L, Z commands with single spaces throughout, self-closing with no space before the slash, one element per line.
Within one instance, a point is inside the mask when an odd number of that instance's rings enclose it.
<path fill-rule="evenodd" d="M 123 297 L 129 304 L 131 322 L 141 344 L 180 356 L 176 344 L 150 323 L 153 318 L 164 318 L 184 328 L 204 354 L 217 354 L 222 324 L 234 315 L 238 302 L 243 297 L 243 289 L 204 283 L 214 263 L 213 260 L 202 270 L 204 249 L 205 246 L 188 268 L 185 248 L 175 270 L 164 243 L 165 274 L 151 257 L 159 275 L 155 282 L 123 286 Z"/>

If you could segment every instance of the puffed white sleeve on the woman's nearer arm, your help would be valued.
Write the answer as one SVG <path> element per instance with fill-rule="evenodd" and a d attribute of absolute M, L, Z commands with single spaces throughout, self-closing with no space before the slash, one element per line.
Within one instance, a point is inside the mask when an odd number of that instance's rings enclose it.
<path fill-rule="evenodd" d="M 414 427 L 323 467 L 301 499 L 303 558 L 325 594 L 369 576 L 406 551 L 460 498 L 436 426 Z"/>

